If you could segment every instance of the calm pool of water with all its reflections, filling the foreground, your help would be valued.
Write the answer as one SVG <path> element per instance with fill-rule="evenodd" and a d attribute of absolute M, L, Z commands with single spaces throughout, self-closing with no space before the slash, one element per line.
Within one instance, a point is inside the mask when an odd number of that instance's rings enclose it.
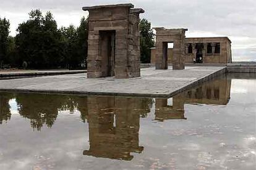
<path fill-rule="evenodd" d="M 0 169 L 255 166 L 255 75 L 171 99 L 0 93 Z"/>

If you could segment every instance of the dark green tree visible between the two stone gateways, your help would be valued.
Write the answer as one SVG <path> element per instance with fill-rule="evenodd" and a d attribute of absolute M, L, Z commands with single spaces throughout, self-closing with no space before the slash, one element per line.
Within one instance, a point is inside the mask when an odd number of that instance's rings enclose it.
<path fill-rule="evenodd" d="M 151 23 L 145 18 L 140 20 L 140 61 L 150 63 L 150 48 L 155 44 Z"/>

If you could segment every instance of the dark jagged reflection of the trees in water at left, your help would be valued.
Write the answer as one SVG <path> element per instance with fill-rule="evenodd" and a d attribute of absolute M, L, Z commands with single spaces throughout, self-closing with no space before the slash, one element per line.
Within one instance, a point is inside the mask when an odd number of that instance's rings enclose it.
<path fill-rule="evenodd" d="M 9 94 L 0 93 L 0 124 L 2 121 L 11 119 L 9 100 L 15 99 L 17 111 L 20 116 L 30 119 L 33 129 L 41 130 L 43 124 L 52 127 L 59 111 L 68 110 L 70 114 L 75 110 L 81 113 L 81 119 L 87 119 L 87 97 L 75 95 L 52 95 L 52 94 Z"/>

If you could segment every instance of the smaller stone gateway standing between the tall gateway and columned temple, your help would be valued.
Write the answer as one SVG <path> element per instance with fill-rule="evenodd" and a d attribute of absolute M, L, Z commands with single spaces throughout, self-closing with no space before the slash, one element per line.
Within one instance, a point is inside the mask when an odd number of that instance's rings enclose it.
<path fill-rule="evenodd" d="M 153 28 L 156 30 L 156 69 L 168 69 L 168 42 L 173 43 L 173 70 L 183 70 L 185 32 L 187 29 Z"/>

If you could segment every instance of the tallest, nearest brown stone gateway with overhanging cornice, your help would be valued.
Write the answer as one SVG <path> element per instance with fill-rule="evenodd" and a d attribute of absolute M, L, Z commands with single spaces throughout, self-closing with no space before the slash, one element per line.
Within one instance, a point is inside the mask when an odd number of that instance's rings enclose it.
<path fill-rule="evenodd" d="M 139 14 L 132 4 L 83 7 L 89 12 L 87 77 L 140 76 Z"/>

